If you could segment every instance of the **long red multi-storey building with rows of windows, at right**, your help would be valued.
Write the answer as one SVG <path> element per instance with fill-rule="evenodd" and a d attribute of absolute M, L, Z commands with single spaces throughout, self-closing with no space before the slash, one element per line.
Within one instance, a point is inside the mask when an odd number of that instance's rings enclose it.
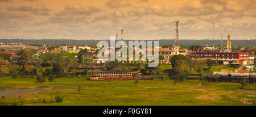
<path fill-rule="evenodd" d="M 239 64 L 249 64 L 249 52 L 221 52 L 218 49 L 192 49 L 191 50 L 192 60 L 197 59 L 210 59 L 215 60 L 216 64 L 231 64 L 237 62 Z"/>

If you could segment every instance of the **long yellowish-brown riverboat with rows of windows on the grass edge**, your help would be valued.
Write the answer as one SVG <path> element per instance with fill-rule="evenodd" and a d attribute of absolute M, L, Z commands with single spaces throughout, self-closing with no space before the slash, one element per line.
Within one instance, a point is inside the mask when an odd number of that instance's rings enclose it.
<path fill-rule="evenodd" d="M 92 70 L 90 80 L 153 80 L 155 75 L 143 76 L 141 70 Z"/>

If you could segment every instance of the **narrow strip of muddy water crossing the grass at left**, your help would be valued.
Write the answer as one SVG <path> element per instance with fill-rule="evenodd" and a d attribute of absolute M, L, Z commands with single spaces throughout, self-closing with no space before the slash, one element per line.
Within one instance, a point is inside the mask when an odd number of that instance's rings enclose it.
<path fill-rule="evenodd" d="M 77 87 L 51 87 L 51 88 L 37 88 L 37 89 L 9 89 L 0 90 L 0 96 L 8 94 L 22 93 L 22 92 L 35 92 L 35 91 L 48 91 L 48 90 L 61 90 L 61 89 L 76 89 Z"/>

